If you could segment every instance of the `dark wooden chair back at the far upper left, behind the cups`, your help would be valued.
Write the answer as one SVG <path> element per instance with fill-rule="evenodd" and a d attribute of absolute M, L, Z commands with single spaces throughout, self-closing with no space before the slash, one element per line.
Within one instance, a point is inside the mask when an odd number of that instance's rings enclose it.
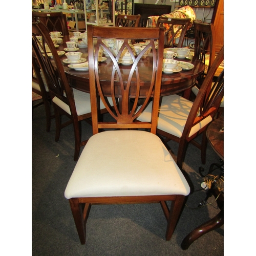
<path fill-rule="evenodd" d="M 32 11 L 32 22 L 45 24 L 50 32 L 61 31 L 62 35 L 69 35 L 67 18 L 62 12 L 34 12 Z"/>

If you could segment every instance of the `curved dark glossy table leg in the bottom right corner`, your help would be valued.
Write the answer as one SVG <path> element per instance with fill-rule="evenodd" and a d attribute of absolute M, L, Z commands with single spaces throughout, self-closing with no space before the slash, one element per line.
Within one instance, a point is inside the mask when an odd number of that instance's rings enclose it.
<path fill-rule="evenodd" d="M 219 214 L 217 214 L 214 218 L 200 225 L 191 231 L 182 241 L 181 248 L 186 250 L 191 243 L 193 243 L 198 238 L 202 237 L 204 234 L 208 233 L 211 230 L 214 230 L 218 227 L 221 227 L 224 223 L 224 208 L 221 209 Z"/>

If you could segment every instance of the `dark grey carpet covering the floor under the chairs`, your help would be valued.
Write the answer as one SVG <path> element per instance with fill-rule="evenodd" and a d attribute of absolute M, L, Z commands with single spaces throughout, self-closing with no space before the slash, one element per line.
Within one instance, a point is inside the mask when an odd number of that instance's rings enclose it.
<path fill-rule="evenodd" d="M 83 138 L 92 129 L 82 124 Z M 32 255 L 223 255 L 224 226 L 205 234 L 187 250 L 181 242 L 194 228 L 218 214 L 214 197 L 205 207 L 197 205 L 206 196 L 200 190 L 203 178 L 199 150 L 188 146 L 183 169 L 191 187 L 173 237 L 164 239 L 166 220 L 160 204 L 93 205 L 87 224 L 87 243 L 81 245 L 71 214 L 69 201 L 64 197 L 67 182 L 76 162 L 73 161 L 74 133 L 70 125 L 54 141 L 55 120 L 46 132 L 44 106 L 34 109 L 32 120 Z M 174 154 L 178 144 L 169 142 Z M 100 157 L 100 156 L 99 156 Z M 206 171 L 219 158 L 208 146 Z"/>

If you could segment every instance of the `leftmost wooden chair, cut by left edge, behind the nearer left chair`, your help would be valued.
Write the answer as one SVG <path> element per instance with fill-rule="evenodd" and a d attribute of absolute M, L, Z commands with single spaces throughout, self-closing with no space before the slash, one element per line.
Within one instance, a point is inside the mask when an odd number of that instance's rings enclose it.
<path fill-rule="evenodd" d="M 50 132 L 51 119 L 54 117 L 54 115 L 51 115 L 51 97 L 49 89 L 46 82 L 44 81 L 45 79 L 43 79 L 41 75 L 42 73 L 40 72 L 39 64 L 32 56 L 32 92 L 35 92 L 42 97 L 42 103 L 44 104 L 46 110 L 46 131 Z M 35 106 L 32 102 L 32 118 L 33 109 Z"/>

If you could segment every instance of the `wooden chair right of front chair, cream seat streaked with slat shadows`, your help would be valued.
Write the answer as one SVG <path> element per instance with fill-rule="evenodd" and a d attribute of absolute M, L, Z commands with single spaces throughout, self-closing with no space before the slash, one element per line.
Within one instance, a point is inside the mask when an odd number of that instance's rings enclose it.
<path fill-rule="evenodd" d="M 179 95 L 162 97 L 160 103 L 157 134 L 164 136 L 165 141 L 174 140 L 179 143 L 177 164 L 182 168 L 188 142 L 201 150 L 201 160 L 206 158 L 206 129 L 214 119 L 224 91 L 224 70 L 217 81 L 212 84 L 216 70 L 224 58 L 224 47 L 207 72 L 202 86 L 194 102 Z M 150 120 L 151 103 L 138 117 L 139 121 Z M 202 143 L 194 139 L 203 133 Z"/>

